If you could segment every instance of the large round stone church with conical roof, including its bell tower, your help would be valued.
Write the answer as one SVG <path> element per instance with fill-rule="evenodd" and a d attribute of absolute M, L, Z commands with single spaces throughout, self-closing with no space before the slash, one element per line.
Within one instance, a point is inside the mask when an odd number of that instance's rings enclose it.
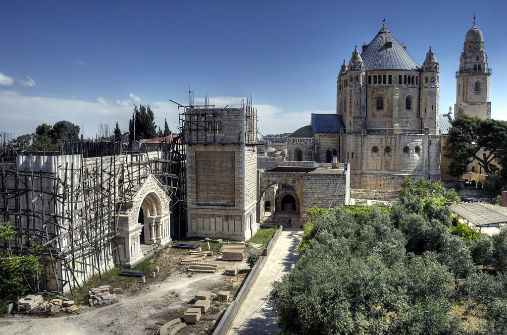
<path fill-rule="evenodd" d="M 456 114 L 490 117 L 490 74 L 474 21 L 456 73 Z M 442 135 L 452 116 L 439 115 L 439 77 L 431 47 L 419 65 L 384 23 L 343 61 L 336 114 L 312 114 L 310 125 L 288 138 L 288 159 L 331 163 L 337 156 L 350 164 L 352 189 L 399 190 L 407 176 L 440 180 Z"/>

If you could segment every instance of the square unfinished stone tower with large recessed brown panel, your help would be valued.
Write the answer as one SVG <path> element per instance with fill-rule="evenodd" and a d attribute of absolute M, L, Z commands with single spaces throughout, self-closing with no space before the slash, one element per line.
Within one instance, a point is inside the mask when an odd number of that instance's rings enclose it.
<path fill-rule="evenodd" d="M 246 241 L 259 228 L 257 112 L 248 106 L 207 111 L 210 127 L 196 121 L 206 117 L 194 118 L 200 111 L 186 111 L 187 237 Z"/>

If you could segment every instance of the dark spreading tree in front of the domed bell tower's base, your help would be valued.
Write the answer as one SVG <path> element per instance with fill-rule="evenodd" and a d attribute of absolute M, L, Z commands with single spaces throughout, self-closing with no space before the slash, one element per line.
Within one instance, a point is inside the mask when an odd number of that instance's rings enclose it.
<path fill-rule="evenodd" d="M 485 173 L 492 172 L 491 161 L 507 143 L 507 122 L 493 119 L 479 119 L 458 115 L 451 121 L 449 138 L 445 145 L 446 157 L 453 158 L 449 167 L 452 176 L 461 176 L 467 171 L 474 157 Z M 483 158 L 480 150 L 486 151 Z"/>

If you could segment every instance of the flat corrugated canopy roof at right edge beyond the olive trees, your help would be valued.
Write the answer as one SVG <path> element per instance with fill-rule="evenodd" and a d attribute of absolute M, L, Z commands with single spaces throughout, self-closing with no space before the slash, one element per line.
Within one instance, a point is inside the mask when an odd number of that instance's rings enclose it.
<path fill-rule="evenodd" d="M 483 203 L 451 206 L 451 210 L 476 226 L 507 222 L 507 208 Z"/>

